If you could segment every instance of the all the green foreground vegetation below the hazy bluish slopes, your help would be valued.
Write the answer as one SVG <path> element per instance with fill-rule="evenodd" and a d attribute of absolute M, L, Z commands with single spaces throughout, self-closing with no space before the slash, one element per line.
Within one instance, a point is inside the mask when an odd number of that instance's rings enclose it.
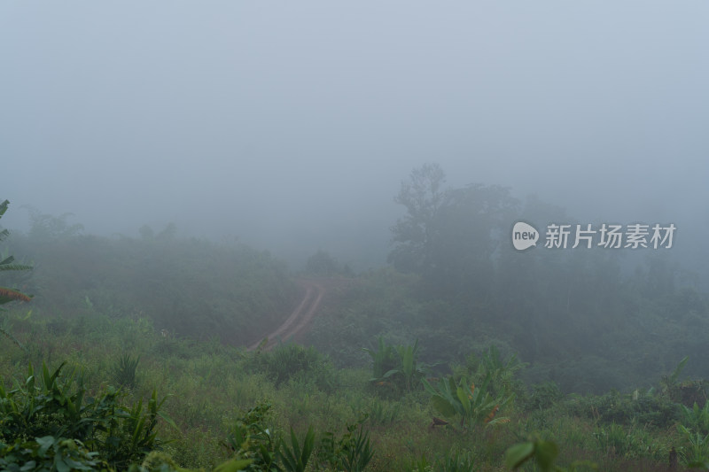
<path fill-rule="evenodd" d="M 706 433 L 697 429 L 709 409 L 705 404 L 684 410 L 660 388 L 569 396 L 549 383 L 520 387 L 514 378 L 515 395 L 505 397 L 505 383 L 495 381 L 483 361 L 489 349 L 474 356 L 478 364 L 467 368 L 485 373 L 482 380 L 477 374 L 448 375 L 423 380 L 421 385 L 428 383 L 430 390 L 392 397 L 372 388 L 369 368 L 335 374 L 322 354 L 316 354 L 312 369 L 277 381 L 266 367 L 270 361 L 261 360 L 264 355 L 278 359 L 277 352 L 165 339 L 142 329 L 144 321 L 100 313 L 81 337 L 76 327 L 85 319 L 66 321 L 66 329 L 56 334 L 48 320 L 9 314 L 11 321 L 21 321 L 12 327 L 28 354 L 13 344 L 0 348 L 5 379 L 0 422 L 7 431 L 0 438 L 6 445 L 0 456 L 7 464 L 66 457 L 93 469 L 124 469 L 129 462 L 152 469 L 154 462 L 156 470 L 222 464 L 253 470 L 357 470 L 365 463 L 365 470 L 499 470 L 505 451 L 534 435 L 557 445 L 553 463 L 563 470 L 587 470 L 586 463 L 599 470 L 662 470 L 673 447 L 680 464 L 709 457 Z M 129 390 L 118 390 L 111 373 L 126 332 L 133 338 L 130 359 L 140 356 L 140 380 Z M 92 342 L 99 336 L 102 343 Z M 279 349 L 315 352 L 296 344 Z M 46 358 L 49 352 L 66 363 L 19 377 L 28 355 Z M 510 360 L 502 357 L 501 363 L 507 366 Z M 328 382 L 317 380 L 318 369 L 328 373 Z M 157 391 L 168 395 L 161 398 Z M 35 408 L 43 416 L 27 416 L 33 401 L 46 405 Z M 72 416 L 73 411 L 79 413 Z M 24 422 L 27 417 L 32 421 Z M 144 432 L 135 435 L 136 428 Z"/>

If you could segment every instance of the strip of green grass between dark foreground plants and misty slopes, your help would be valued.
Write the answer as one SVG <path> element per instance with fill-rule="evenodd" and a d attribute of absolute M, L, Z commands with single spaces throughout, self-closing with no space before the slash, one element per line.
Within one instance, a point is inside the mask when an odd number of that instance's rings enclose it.
<path fill-rule="evenodd" d="M 47 360 L 50 368 L 66 361 L 66 368 L 81 370 L 89 391 L 122 383 L 131 384 L 126 393 L 134 401 L 149 398 L 153 389 L 168 394 L 163 410 L 175 420 L 179 432 L 164 422 L 158 429 L 161 437 L 172 441 L 164 452 L 183 467 L 208 469 L 229 459 L 230 451 L 222 444 L 230 428 L 261 401 L 272 406 L 273 428 L 284 437 L 290 438 L 292 428 L 302 444 L 313 428 L 313 457 L 321 452 L 326 431 L 342 437 L 347 425 L 367 417 L 363 428 L 369 431 L 374 452 L 367 470 L 411 470 L 422 458 L 435 470 L 469 469 L 471 463 L 474 470 L 503 470 L 505 450 L 533 434 L 560 445 L 560 463 L 592 460 L 604 470 L 633 469 L 634 464 L 652 470 L 666 461 L 673 445 L 681 451 L 691 446 L 666 424 L 663 428 L 633 424 L 628 415 L 649 417 L 637 409 L 645 404 L 631 405 L 622 396 L 579 400 L 559 398 L 553 391 L 544 402 L 510 405 L 504 412 L 510 417 L 508 423 L 476 424 L 467 431 L 445 426 L 432 429 L 436 413 L 422 389 L 399 400 L 382 398 L 371 388 L 369 369 L 337 371 L 310 348 L 287 344 L 272 353 L 256 354 L 218 343 L 166 339 L 149 329 L 150 322 L 144 319 L 101 314 L 66 321 L 66 329 L 56 333 L 48 321 L 13 324 L 19 317 L 9 315 L 12 332 L 27 352 L 12 343 L 0 344 L 0 375 L 5 386 L 21 377 L 28 361 L 41 365 Z M 81 329 L 79 322 L 84 323 Z M 123 352 L 127 345 L 129 352 L 116 358 L 115 352 Z M 295 371 L 286 378 L 282 375 L 287 362 Z M 526 410 L 525 406 L 534 408 Z M 603 411 L 586 414 L 581 408 Z M 627 423 L 603 422 L 603 414 Z"/>

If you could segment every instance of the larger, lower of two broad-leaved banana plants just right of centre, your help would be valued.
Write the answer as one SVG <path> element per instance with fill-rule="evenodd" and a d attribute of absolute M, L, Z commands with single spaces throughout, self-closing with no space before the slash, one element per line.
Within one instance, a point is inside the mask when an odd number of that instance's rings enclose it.
<path fill-rule="evenodd" d="M 488 391 L 490 380 L 491 375 L 488 374 L 477 387 L 465 378 L 456 383 L 452 376 L 441 379 L 437 385 L 432 385 L 426 379 L 421 379 L 421 382 L 431 394 L 432 406 L 439 414 L 451 419 L 460 417 L 461 427 L 468 428 L 475 423 L 490 425 L 510 421 L 496 414 L 510 402 L 514 394 L 507 398 L 493 397 Z"/>

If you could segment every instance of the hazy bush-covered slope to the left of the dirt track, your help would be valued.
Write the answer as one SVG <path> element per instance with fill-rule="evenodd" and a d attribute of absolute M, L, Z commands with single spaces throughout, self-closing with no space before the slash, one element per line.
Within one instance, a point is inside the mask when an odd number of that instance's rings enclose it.
<path fill-rule="evenodd" d="M 35 271 L 17 281 L 35 295 L 35 316 L 64 320 L 98 313 L 146 318 L 157 330 L 227 344 L 257 340 L 300 296 L 284 264 L 242 244 L 167 234 L 106 238 L 13 235 L 11 251 Z"/>

